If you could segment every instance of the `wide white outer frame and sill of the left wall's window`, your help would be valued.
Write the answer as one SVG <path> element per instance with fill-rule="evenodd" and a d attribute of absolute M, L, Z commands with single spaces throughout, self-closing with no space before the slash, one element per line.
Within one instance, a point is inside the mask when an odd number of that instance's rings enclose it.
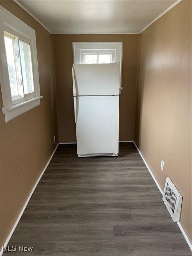
<path fill-rule="evenodd" d="M 33 70 L 33 84 L 34 94 L 25 95 L 22 100 L 12 100 L 11 88 L 9 81 L 9 73 L 5 51 L 4 31 L 19 37 L 24 42 L 30 43 L 31 48 L 31 62 Z M 0 83 L 3 98 L 2 111 L 5 114 L 5 122 L 29 111 L 30 109 L 40 105 L 40 86 L 39 86 L 39 72 L 37 63 L 37 47 L 35 30 L 18 19 L 12 13 L 0 6 Z"/>

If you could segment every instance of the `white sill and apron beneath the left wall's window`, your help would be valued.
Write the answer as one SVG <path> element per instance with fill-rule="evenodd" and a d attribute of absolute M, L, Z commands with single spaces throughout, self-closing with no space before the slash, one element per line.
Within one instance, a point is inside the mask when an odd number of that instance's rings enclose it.
<path fill-rule="evenodd" d="M 31 110 L 32 108 L 40 105 L 40 99 L 43 96 L 35 97 L 30 100 L 26 100 L 24 102 L 20 102 L 18 104 L 13 105 L 10 108 L 2 108 L 3 114 L 5 114 L 5 122 L 12 120 L 13 118 L 22 115 L 23 113 Z"/>

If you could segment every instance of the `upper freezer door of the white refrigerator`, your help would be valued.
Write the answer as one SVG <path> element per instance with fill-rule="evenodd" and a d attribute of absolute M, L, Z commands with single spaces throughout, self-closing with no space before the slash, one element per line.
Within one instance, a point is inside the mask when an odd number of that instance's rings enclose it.
<path fill-rule="evenodd" d="M 119 95 L 120 64 L 73 64 L 73 95 Z"/>

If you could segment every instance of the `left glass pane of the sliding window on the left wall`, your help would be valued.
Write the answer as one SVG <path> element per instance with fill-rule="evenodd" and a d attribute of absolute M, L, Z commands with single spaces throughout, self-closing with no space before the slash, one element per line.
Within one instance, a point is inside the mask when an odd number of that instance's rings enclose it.
<path fill-rule="evenodd" d="M 4 37 L 5 39 L 5 50 L 7 57 L 7 65 L 9 72 L 9 81 L 11 87 L 11 96 L 12 98 L 19 94 L 18 90 L 18 80 L 16 75 L 16 64 L 14 58 L 14 39 L 9 37 Z"/>

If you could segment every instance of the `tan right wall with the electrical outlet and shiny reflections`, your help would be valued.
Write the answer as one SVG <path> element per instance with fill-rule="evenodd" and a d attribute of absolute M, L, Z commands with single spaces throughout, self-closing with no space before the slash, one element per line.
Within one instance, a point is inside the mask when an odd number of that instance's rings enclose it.
<path fill-rule="evenodd" d="M 135 140 L 161 188 L 169 176 L 182 194 L 191 240 L 191 1 L 141 34 Z"/>

